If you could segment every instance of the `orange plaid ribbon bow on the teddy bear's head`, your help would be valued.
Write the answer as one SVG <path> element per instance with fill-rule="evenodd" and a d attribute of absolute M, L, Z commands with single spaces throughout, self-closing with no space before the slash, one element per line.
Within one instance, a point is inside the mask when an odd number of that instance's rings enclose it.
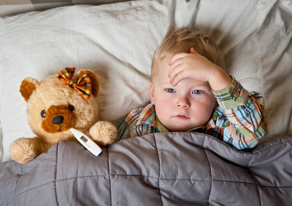
<path fill-rule="evenodd" d="M 79 78 L 77 84 L 75 84 L 73 81 L 71 81 L 74 77 L 74 73 L 75 67 L 72 68 L 67 67 L 59 72 L 57 79 L 69 84 L 75 90 L 80 92 L 85 99 L 89 99 L 91 94 L 90 78 L 87 76 L 87 74 L 84 74 Z"/>

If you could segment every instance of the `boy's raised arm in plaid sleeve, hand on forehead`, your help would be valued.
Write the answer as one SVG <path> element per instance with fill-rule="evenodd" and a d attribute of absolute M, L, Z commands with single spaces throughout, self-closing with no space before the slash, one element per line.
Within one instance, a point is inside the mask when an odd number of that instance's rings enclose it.
<path fill-rule="evenodd" d="M 218 104 L 223 109 L 215 111 L 215 122 L 209 125 L 213 128 L 210 129 L 213 136 L 237 149 L 245 149 L 254 147 L 258 139 L 267 134 L 267 125 L 263 118 L 263 97 L 258 93 L 249 95 L 239 82 L 196 53 L 193 48 L 190 53 L 174 55 L 169 65 L 171 67 L 168 77 L 173 86 L 185 78 L 209 82 Z"/>

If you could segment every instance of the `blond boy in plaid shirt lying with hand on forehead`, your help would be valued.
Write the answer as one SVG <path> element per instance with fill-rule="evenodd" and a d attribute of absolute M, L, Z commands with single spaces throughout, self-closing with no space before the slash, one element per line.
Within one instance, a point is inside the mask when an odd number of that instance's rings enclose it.
<path fill-rule="evenodd" d="M 225 72 L 213 40 L 187 28 L 170 28 L 151 65 L 150 102 L 118 126 L 126 139 L 154 132 L 202 132 L 239 150 L 267 134 L 263 97 L 249 93 Z"/>

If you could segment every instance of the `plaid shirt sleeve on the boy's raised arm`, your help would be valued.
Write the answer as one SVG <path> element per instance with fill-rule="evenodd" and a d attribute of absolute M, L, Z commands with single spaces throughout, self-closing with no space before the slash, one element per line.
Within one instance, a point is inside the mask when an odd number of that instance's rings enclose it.
<path fill-rule="evenodd" d="M 253 148 L 267 134 L 264 99 L 258 92 L 248 92 L 233 76 L 230 77 L 233 79 L 230 86 L 213 91 L 223 113 L 218 110 L 217 115 L 213 115 L 215 128 L 221 128 L 218 129 L 221 138 L 223 136 L 223 141 L 232 147 L 239 150 Z M 218 118 L 220 116 L 224 119 Z"/>

